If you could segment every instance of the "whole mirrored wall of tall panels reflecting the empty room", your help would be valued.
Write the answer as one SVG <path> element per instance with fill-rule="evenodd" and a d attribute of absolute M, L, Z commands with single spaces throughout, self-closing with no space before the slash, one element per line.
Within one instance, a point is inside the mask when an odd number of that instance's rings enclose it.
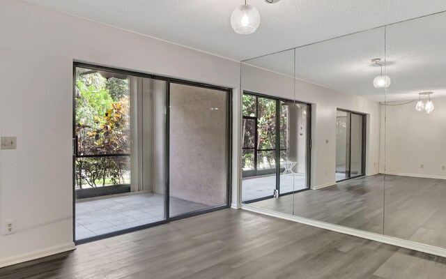
<path fill-rule="evenodd" d="M 244 206 L 446 248 L 445 24 L 243 61 Z"/>

